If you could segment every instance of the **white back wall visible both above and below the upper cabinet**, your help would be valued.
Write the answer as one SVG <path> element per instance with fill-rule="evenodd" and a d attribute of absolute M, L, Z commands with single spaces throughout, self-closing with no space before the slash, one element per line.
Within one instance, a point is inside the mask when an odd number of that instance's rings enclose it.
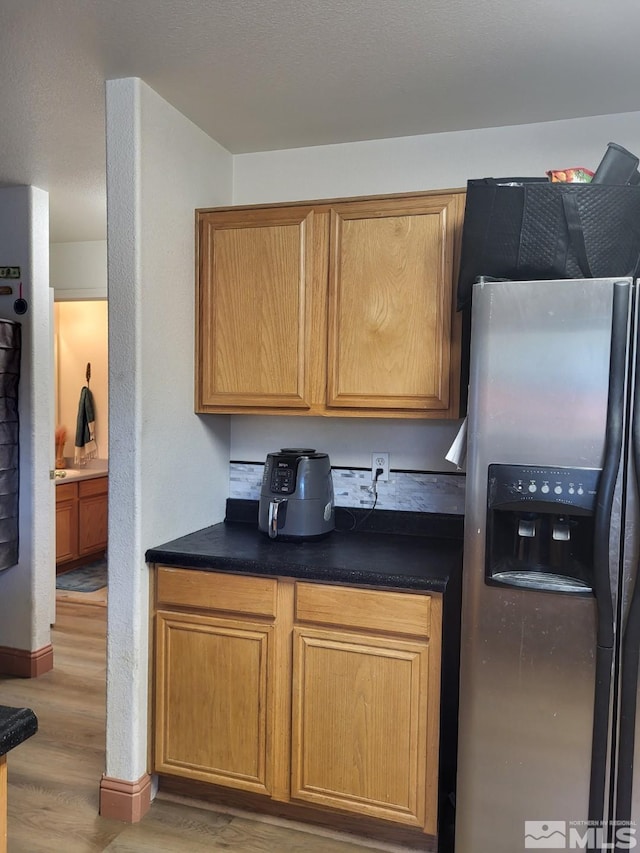
<path fill-rule="evenodd" d="M 412 136 L 234 157 L 234 204 L 377 195 L 464 187 L 468 178 L 595 169 L 608 142 L 640 151 L 640 112 L 546 124 Z M 370 451 L 391 467 L 451 471 L 442 458 L 457 421 L 340 418 L 231 420 L 231 456 L 262 461 L 287 444 L 329 452 L 332 464 L 368 467 Z"/>

